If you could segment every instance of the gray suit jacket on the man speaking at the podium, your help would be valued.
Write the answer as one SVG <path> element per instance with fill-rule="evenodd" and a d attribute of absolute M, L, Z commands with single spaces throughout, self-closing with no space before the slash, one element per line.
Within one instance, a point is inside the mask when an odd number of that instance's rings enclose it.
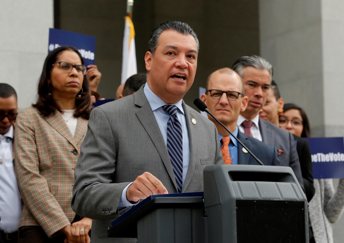
<path fill-rule="evenodd" d="M 222 164 L 223 158 L 215 125 L 184 102 L 182 106 L 190 140 L 190 164 L 182 192 L 199 192 L 203 191 L 204 167 Z M 94 219 L 92 242 L 136 242 L 107 238 L 107 228 L 119 217 L 123 189 L 146 171 L 169 193 L 177 193 L 165 142 L 141 87 L 133 95 L 96 107 L 90 115 L 75 167 L 72 208 Z"/>

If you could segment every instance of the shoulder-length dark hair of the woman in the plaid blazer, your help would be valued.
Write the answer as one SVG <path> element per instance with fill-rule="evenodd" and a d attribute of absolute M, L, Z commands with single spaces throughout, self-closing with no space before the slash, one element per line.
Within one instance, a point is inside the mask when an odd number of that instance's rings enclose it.
<path fill-rule="evenodd" d="M 83 57 L 73 46 L 58 47 L 47 55 L 44 61 L 41 77 L 38 80 L 38 99 L 35 104 L 32 104 L 32 106 L 36 107 L 43 116 L 49 116 L 51 113 L 55 112 L 56 109 L 61 112 L 60 107 L 58 107 L 52 95 L 48 95 L 48 93 L 51 92 L 49 89 L 50 85 L 48 84 L 48 79 L 50 79 L 50 73 L 53 69 L 53 64 L 57 60 L 57 57 L 60 56 L 65 50 L 74 51 L 80 57 L 81 63 L 84 64 Z M 88 119 L 91 112 L 90 104 L 91 96 L 89 82 L 86 75 L 84 75 L 81 97 L 78 97 L 78 95 L 75 97 L 76 111 L 74 112 L 74 116 Z"/>

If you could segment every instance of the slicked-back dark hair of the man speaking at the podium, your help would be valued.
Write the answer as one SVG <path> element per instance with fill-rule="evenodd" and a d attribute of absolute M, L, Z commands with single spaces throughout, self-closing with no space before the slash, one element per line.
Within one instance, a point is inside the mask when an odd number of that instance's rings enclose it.
<path fill-rule="evenodd" d="M 159 37 L 162 32 L 166 30 L 173 30 L 183 35 L 192 35 L 195 38 L 196 44 L 197 44 L 197 51 L 200 49 L 200 42 L 198 41 L 196 33 L 193 31 L 193 29 L 188 25 L 187 23 L 181 22 L 181 21 L 166 21 L 162 24 L 159 24 L 157 27 L 154 28 L 152 31 L 152 34 L 149 38 L 149 44 L 148 44 L 148 51 L 152 53 L 154 56 L 155 50 L 158 47 L 158 41 Z"/>

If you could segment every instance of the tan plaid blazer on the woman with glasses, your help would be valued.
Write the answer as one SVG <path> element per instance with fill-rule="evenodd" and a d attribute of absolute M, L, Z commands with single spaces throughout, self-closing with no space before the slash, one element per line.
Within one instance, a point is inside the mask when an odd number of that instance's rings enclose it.
<path fill-rule="evenodd" d="M 15 171 L 24 201 L 19 227 L 40 225 L 50 237 L 75 217 L 74 168 L 87 120 L 78 118 L 73 137 L 60 112 L 43 117 L 29 107 L 18 114 L 16 124 Z"/>

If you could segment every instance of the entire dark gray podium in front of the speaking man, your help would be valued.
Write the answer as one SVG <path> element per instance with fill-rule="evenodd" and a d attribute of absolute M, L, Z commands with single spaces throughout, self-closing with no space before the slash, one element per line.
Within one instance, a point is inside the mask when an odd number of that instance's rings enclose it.
<path fill-rule="evenodd" d="M 308 243 L 308 203 L 290 167 L 209 165 L 204 194 L 152 195 L 113 221 L 108 236 L 138 243 Z"/>

